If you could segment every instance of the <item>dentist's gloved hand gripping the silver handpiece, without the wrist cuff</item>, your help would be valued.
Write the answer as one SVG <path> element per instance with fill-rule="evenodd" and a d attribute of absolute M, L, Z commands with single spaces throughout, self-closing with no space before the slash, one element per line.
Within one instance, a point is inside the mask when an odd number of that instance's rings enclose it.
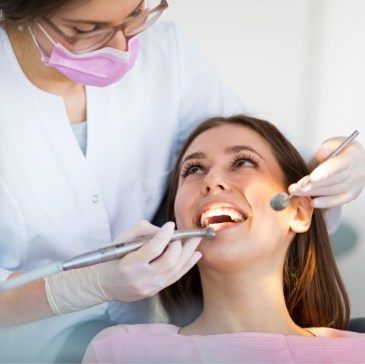
<path fill-rule="evenodd" d="M 155 234 L 141 248 L 123 258 L 98 267 L 98 279 L 111 301 L 136 301 L 150 297 L 176 282 L 200 259 L 196 252 L 201 238 L 191 238 L 184 244 L 169 241 L 175 224 L 166 223 L 161 229 L 142 221 L 132 232 L 122 234 L 115 243 Z"/>

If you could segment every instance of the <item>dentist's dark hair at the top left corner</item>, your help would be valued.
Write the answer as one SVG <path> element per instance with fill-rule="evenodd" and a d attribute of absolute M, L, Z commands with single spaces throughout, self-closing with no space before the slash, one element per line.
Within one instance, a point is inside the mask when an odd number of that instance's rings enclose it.
<path fill-rule="evenodd" d="M 21 24 L 52 14 L 72 0 L 0 0 L 0 24 Z"/>

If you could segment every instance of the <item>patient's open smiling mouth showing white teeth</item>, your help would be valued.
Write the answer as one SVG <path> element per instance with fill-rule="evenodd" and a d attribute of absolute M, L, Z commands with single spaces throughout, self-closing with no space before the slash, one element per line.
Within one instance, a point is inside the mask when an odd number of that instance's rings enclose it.
<path fill-rule="evenodd" d="M 202 228 L 211 227 L 219 230 L 227 224 L 238 224 L 246 220 L 246 216 L 231 207 L 212 207 L 205 210 L 199 220 L 198 226 Z"/>

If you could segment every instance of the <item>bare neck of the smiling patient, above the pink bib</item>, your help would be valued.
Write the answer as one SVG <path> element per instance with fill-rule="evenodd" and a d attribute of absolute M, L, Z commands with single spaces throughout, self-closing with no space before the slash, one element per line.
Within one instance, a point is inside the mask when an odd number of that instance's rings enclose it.
<path fill-rule="evenodd" d="M 282 274 L 223 273 L 201 269 L 204 309 L 182 333 L 268 332 L 310 335 L 291 319 Z"/>

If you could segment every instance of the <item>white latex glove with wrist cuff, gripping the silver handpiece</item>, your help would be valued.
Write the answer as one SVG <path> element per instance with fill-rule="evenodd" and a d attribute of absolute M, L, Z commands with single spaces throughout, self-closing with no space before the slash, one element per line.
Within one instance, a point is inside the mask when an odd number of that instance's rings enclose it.
<path fill-rule="evenodd" d="M 66 271 L 45 279 L 50 307 L 56 314 L 79 311 L 106 301 L 136 301 L 153 296 L 191 269 L 201 258 L 201 238 L 171 242 L 175 224 L 158 228 L 141 221 L 114 244 L 154 235 L 141 248 L 110 262 Z"/>

